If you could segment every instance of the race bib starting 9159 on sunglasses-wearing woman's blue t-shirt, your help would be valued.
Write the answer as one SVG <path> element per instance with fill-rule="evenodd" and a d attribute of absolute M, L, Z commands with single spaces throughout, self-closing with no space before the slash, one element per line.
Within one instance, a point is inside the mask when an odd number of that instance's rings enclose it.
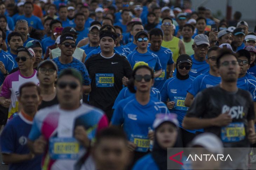
<path fill-rule="evenodd" d="M 147 152 L 149 149 L 150 141 L 147 136 L 131 135 L 130 141 L 137 145 L 136 151 Z"/>

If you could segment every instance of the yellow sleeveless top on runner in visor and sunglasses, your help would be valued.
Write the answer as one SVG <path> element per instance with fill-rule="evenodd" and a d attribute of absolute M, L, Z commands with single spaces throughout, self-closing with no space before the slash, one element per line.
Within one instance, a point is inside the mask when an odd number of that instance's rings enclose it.
<path fill-rule="evenodd" d="M 180 41 L 179 38 L 177 37 L 173 37 L 172 40 L 170 41 L 164 41 L 162 42 L 162 46 L 166 47 L 168 49 L 171 50 L 171 52 L 173 52 L 173 60 L 174 62 L 176 62 L 178 56 L 179 56 L 179 52 L 180 52 L 180 48 L 178 46 L 178 42 Z"/>

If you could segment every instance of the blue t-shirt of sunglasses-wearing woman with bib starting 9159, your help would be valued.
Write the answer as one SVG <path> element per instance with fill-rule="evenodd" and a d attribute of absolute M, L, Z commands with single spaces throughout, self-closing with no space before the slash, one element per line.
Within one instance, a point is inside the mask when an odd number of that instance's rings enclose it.
<path fill-rule="evenodd" d="M 136 151 L 147 152 L 149 149 L 148 128 L 153 129 L 153 122 L 158 113 L 169 113 L 163 102 L 150 97 L 148 104 L 141 105 L 135 95 L 121 100 L 113 113 L 112 124 L 123 124 L 123 130 L 129 141 L 137 144 Z M 147 142 L 143 142 L 147 140 Z M 146 144 L 147 143 L 147 144 Z"/>

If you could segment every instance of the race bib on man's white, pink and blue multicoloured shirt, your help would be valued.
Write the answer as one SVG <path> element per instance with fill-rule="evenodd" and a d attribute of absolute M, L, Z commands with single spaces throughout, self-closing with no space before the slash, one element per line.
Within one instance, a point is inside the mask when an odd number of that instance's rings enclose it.
<path fill-rule="evenodd" d="M 78 159 L 79 143 L 75 138 L 50 138 L 49 153 L 54 160 Z"/>

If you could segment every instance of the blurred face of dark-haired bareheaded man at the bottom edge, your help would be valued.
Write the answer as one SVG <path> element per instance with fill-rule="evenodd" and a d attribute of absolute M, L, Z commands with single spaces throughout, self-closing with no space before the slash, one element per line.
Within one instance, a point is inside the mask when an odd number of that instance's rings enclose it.
<path fill-rule="evenodd" d="M 93 150 L 97 169 L 123 170 L 129 157 L 127 144 L 122 139 L 101 139 Z"/>

